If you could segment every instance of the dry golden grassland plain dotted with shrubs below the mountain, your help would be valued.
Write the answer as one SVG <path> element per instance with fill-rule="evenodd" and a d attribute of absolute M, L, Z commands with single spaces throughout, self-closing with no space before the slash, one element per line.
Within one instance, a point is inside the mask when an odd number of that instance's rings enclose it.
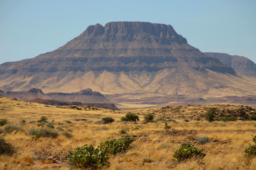
<path fill-rule="evenodd" d="M 9 120 L 9 124 L 0 126 L 0 129 L 4 130 L 10 124 L 22 129 L 1 135 L 15 147 L 17 153 L 11 157 L 0 156 L 0 169 L 71 169 L 67 163 L 67 150 L 74 151 L 85 144 L 97 147 L 107 139 L 121 138 L 118 132 L 122 129 L 137 140 L 124 154 L 111 156 L 110 166 L 103 169 L 256 169 L 256 157 L 249 159 L 244 156 L 244 149 L 252 143 L 251 135 L 256 135 L 256 122 L 238 120 L 209 123 L 202 117 L 210 107 L 218 107 L 223 113 L 228 110 L 230 114 L 232 109 L 242 108 L 246 109 L 246 114 L 254 113 L 254 108 L 230 105 L 109 111 L 85 106 L 46 106 L 0 97 L 0 118 Z M 119 121 L 128 112 L 137 113 L 141 121 Z M 146 113 L 153 113 L 156 121 L 143 124 Z M 29 130 L 42 128 L 36 122 L 41 116 L 54 123 L 58 138 L 31 139 Z M 113 117 L 115 122 L 97 124 L 103 117 Z M 26 123 L 22 123 L 22 120 L 26 120 Z M 164 130 L 163 121 L 171 126 L 170 130 Z M 68 138 L 66 132 L 72 137 Z M 208 137 L 209 142 L 204 145 L 198 143 L 196 139 L 201 137 Z M 195 147 L 204 149 L 206 156 L 202 160 L 179 164 L 173 162 L 173 153 L 182 142 L 195 143 Z"/>

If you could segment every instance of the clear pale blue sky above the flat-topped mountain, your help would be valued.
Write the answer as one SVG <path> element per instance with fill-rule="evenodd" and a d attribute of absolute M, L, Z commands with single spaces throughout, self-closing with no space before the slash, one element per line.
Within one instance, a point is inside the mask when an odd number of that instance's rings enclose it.
<path fill-rule="evenodd" d="M 51 52 L 89 25 L 111 21 L 171 24 L 202 52 L 241 55 L 256 63 L 255 0 L 1 0 L 0 64 Z"/>

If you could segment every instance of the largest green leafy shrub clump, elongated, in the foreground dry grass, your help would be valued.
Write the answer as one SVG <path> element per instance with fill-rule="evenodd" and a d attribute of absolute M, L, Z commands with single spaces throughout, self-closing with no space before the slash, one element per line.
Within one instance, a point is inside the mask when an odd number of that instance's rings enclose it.
<path fill-rule="evenodd" d="M 108 159 L 111 155 L 126 151 L 133 141 L 135 141 L 133 137 L 126 135 L 118 140 L 106 140 L 96 149 L 92 145 L 77 147 L 74 152 L 68 150 L 68 162 L 77 168 L 99 169 L 109 164 Z"/>

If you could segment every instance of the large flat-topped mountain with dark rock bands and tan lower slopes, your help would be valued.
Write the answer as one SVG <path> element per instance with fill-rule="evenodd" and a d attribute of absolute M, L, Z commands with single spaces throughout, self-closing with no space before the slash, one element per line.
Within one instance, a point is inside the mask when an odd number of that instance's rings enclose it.
<path fill-rule="evenodd" d="M 256 95 L 255 84 L 190 46 L 171 25 L 149 22 L 91 25 L 53 52 L 0 65 L 0 88 L 8 91 L 209 98 Z"/>

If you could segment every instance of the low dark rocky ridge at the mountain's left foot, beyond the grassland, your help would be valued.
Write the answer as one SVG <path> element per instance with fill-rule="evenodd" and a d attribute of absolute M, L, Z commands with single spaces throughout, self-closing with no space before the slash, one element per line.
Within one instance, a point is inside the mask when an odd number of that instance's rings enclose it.
<path fill-rule="evenodd" d="M 92 91 L 92 89 L 85 89 L 72 93 L 48 93 L 44 94 L 41 89 L 32 88 L 28 91 L 3 91 L 0 90 L 0 96 L 17 98 L 20 100 L 31 101 L 34 103 L 41 103 L 45 105 L 67 106 L 67 105 L 88 105 L 101 107 L 106 109 L 118 110 L 118 108 L 111 103 L 106 97 L 102 96 L 100 92 Z"/>

